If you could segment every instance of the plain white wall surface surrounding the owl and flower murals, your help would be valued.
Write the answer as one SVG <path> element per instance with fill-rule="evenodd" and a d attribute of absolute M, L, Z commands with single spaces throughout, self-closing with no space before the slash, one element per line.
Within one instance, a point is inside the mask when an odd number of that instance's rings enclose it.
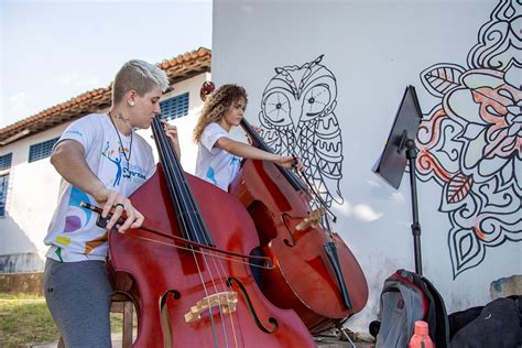
<path fill-rule="evenodd" d="M 213 77 L 218 86 L 236 83 L 247 88 L 246 117 L 251 123 L 259 124 L 263 90 L 276 75 L 275 67 L 301 66 L 324 54 L 320 64 L 336 78 L 334 112 L 342 138 L 345 199 L 341 206 L 334 204 L 339 217 L 336 230 L 358 258 L 370 289 L 367 307 L 347 324 L 352 328 L 367 330 L 376 318 L 388 275 L 400 268 L 414 270 L 407 174 L 394 191 L 371 172 L 404 88 L 416 87 L 424 113 L 441 104 L 421 84 L 421 72 L 437 63 L 470 69 L 468 52 L 497 4 L 492 0 L 214 1 Z M 515 8 L 520 11 L 520 6 Z M 510 50 L 504 55 L 515 56 Z M 516 161 L 520 167 L 520 152 Z M 508 240 L 485 247 L 485 259 L 454 279 L 452 225 L 448 213 L 438 211 L 442 186 L 417 181 L 417 189 L 423 271 L 444 296 L 448 312 L 486 304 L 491 281 L 522 273 L 520 243 Z M 520 215 L 511 217 L 510 237 L 520 240 Z"/>

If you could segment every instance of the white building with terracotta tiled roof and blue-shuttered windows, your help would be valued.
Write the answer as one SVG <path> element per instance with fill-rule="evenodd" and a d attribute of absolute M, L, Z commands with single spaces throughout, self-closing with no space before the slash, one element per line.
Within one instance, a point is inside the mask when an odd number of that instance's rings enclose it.
<path fill-rule="evenodd" d="M 199 88 L 210 79 L 210 50 L 202 47 L 157 64 L 171 84 L 160 101 L 162 116 L 177 126 L 182 148 L 193 146 Z M 106 112 L 110 99 L 110 86 L 96 88 L 0 129 L 0 273 L 43 270 L 43 238 L 61 182 L 50 163 L 51 150 L 72 121 Z M 152 143 L 149 132 L 140 131 Z M 192 161 L 182 156 L 184 168 L 191 171 Z"/>

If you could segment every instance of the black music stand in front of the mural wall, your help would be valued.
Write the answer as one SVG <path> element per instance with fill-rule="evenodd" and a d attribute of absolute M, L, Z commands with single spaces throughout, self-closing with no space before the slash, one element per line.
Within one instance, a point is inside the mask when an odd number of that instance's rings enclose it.
<path fill-rule="evenodd" d="M 393 127 L 388 135 L 384 150 L 372 168 L 390 186 L 399 188 L 402 175 L 410 163 L 410 184 L 412 196 L 412 235 L 415 252 L 415 272 L 422 275 L 421 224 L 418 222 L 417 188 L 415 185 L 415 138 L 422 120 L 422 111 L 413 86 L 407 86 L 395 115 Z"/>

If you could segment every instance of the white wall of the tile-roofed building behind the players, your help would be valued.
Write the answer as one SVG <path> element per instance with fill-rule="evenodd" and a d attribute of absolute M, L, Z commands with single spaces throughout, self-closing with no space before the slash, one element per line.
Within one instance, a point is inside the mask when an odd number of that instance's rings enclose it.
<path fill-rule="evenodd" d="M 174 85 L 174 90 L 162 97 L 162 100 L 189 93 L 188 116 L 171 121 L 178 127 L 181 146 L 186 153 L 182 164 L 187 172 L 194 172 L 195 145 L 192 143 L 192 129 L 196 122 L 203 101 L 199 98 L 202 84 L 210 79 L 210 74 L 199 74 Z M 0 272 L 43 271 L 47 247 L 43 239 L 53 216 L 61 176 L 51 165 L 50 157 L 28 163 L 29 148 L 46 140 L 57 138 L 69 124 L 30 135 L 0 148 L 0 155 L 12 152 L 12 165 L 9 171 L 9 189 L 6 204 L 6 216 L 0 218 Z M 155 149 L 151 130 L 141 130 Z M 192 148 L 192 150 L 191 150 Z M 157 154 L 154 153 L 157 161 Z"/>

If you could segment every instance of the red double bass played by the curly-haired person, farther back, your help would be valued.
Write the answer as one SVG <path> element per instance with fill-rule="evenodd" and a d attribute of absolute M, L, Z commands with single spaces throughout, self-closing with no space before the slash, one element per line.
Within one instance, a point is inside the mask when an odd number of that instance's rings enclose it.
<path fill-rule="evenodd" d="M 202 98 L 214 89 L 202 87 Z M 272 152 L 244 120 L 252 145 Z M 312 185 L 309 185 L 312 189 Z M 228 191 L 248 209 L 274 269 L 261 270 L 261 290 L 281 308 L 294 309 L 312 334 L 338 326 L 368 301 L 368 285 L 357 259 L 331 231 L 326 206 L 291 171 L 272 162 L 243 160 Z M 322 209 L 313 210 L 316 199 Z"/>

